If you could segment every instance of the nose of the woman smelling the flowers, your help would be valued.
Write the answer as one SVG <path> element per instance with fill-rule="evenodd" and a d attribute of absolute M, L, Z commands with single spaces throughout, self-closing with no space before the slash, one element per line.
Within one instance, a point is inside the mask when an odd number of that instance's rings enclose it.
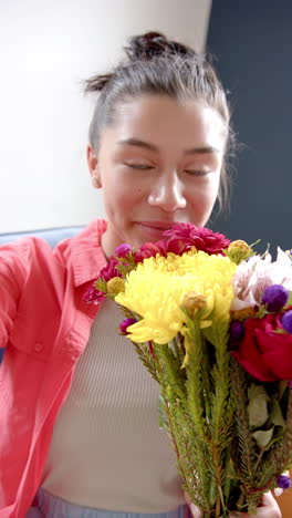
<path fill-rule="evenodd" d="M 177 172 L 163 174 L 152 186 L 148 204 L 160 207 L 167 213 L 185 208 L 187 205 L 182 194 L 182 184 Z"/>

